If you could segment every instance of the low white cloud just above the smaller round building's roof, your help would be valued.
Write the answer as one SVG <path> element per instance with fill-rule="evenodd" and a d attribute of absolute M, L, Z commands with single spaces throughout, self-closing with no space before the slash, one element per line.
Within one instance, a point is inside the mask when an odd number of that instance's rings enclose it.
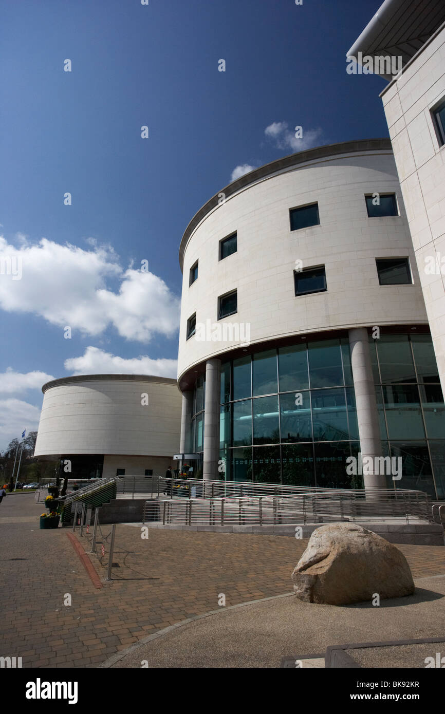
<path fill-rule="evenodd" d="M 151 374 L 176 378 L 177 361 L 151 359 L 146 355 L 125 359 L 97 347 L 87 347 L 81 357 L 66 359 L 64 367 L 73 374 Z"/>

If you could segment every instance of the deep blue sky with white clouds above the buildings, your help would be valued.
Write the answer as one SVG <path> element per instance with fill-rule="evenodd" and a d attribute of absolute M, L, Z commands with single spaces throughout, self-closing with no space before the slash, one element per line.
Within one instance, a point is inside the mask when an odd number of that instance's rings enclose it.
<path fill-rule="evenodd" d="M 50 378 L 176 376 L 179 242 L 232 176 L 388 136 L 385 81 L 346 73 L 380 4 L 4 0 L 0 449 Z"/>

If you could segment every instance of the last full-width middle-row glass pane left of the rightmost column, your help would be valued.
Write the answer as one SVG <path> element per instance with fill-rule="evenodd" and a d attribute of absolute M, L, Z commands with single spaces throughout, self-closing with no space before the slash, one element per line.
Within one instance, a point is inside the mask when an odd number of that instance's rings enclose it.
<path fill-rule="evenodd" d="M 344 389 L 319 389 L 311 392 L 314 441 L 349 439 Z"/>

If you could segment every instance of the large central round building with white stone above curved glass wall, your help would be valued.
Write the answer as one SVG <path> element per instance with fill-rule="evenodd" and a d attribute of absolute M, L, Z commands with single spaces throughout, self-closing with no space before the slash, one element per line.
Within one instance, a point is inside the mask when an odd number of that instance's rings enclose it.
<path fill-rule="evenodd" d="M 360 488 L 346 459 L 394 456 L 397 486 L 444 498 L 444 401 L 389 139 L 242 176 L 191 219 L 179 261 L 179 451 L 196 474 Z"/>

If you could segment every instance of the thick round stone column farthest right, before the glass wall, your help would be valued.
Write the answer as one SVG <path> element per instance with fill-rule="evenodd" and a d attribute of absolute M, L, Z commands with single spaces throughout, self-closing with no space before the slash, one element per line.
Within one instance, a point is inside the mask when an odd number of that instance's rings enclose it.
<path fill-rule="evenodd" d="M 359 423 L 360 451 L 362 458 L 371 456 L 374 464 L 375 456 L 383 456 L 379 428 L 379 413 L 377 411 L 374 376 L 369 353 L 368 331 L 364 327 L 349 330 L 349 345 L 351 346 L 351 366 L 356 393 L 357 421 Z M 374 468 L 364 467 L 364 487 L 366 491 L 374 488 L 386 488 L 384 475 L 374 474 Z"/>

